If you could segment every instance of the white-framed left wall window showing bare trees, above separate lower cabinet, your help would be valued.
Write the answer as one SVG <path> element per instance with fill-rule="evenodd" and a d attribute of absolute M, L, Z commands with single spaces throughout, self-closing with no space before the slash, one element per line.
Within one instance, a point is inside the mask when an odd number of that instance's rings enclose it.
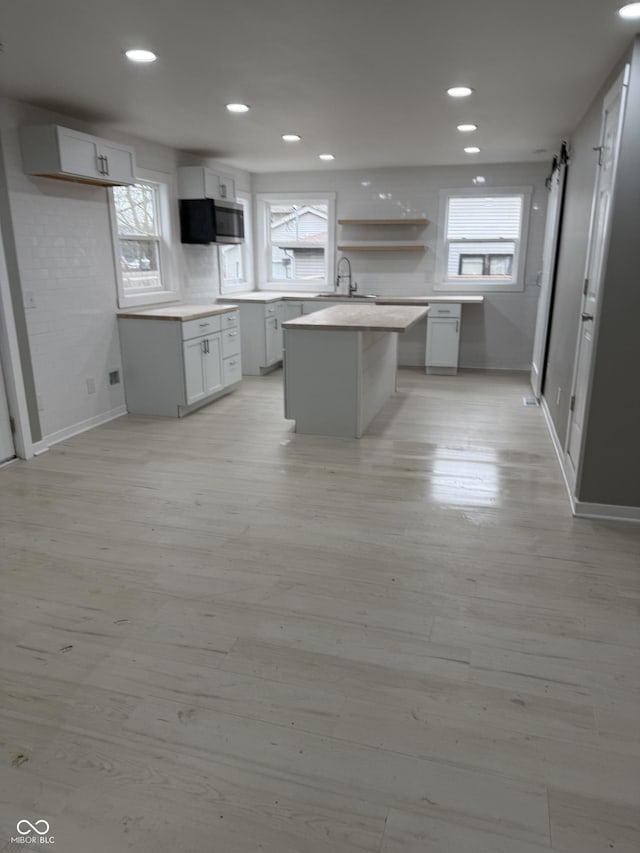
<path fill-rule="evenodd" d="M 141 180 L 111 190 L 112 230 L 120 307 L 175 300 L 168 186 Z"/>

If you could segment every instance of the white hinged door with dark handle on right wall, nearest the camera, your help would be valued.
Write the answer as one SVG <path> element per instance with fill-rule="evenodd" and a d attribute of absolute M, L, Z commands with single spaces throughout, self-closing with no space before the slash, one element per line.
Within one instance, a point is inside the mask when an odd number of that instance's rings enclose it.
<path fill-rule="evenodd" d="M 572 485 L 574 487 L 580 467 L 580 453 L 584 436 L 584 420 L 587 411 L 591 362 L 594 351 L 594 331 L 597 322 L 598 291 L 604 272 L 609 237 L 611 198 L 627 92 L 624 82 L 626 73 L 625 70 L 607 94 L 603 104 L 598 170 L 591 212 L 585 288 L 580 314 L 580 331 L 571 391 L 572 405 L 565 452 L 568 463 L 567 470 L 573 479 Z"/>

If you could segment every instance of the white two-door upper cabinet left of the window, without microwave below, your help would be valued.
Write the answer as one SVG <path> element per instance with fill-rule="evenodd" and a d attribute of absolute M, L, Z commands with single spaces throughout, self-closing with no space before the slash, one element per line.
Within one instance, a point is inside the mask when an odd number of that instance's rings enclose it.
<path fill-rule="evenodd" d="M 111 187 L 136 183 L 128 145 L 55 124 L 20 128 L 20 143 L 28 175 Z"/>

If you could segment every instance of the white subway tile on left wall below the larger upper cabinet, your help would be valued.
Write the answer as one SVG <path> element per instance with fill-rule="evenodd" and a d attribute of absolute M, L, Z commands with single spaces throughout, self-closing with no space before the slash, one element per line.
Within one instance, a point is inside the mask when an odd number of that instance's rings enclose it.
<path fill-rule="evenodd" d="M 68 191 L 69 192 L 69 191 Z M 99 417 L 124 404 L 116 284 L 106 196 L 11 194 L 18 265 L 36 307 L 26 312 L 43 435 Z M 86 377 L 96 377 L 87 394 Z"/>

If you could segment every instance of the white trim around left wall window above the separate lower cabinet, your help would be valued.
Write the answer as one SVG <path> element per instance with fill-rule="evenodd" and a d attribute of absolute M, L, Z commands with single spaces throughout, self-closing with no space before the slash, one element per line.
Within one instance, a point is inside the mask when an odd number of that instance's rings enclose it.
<path fill-rule="evenodd" d="M 142 308 L 150 305 L 160 305 L 166 302 L 179 302 L 181 299 L 180 278 L 177 262 L 176 248 L 179 244 L 177 235 L 177 198 L 178 190 L 175 175 L 168 172 L 155 172 L 148 169 L 137 169 L 136 178 L 140 183 L 157 184 L 160 187 L 158 193 L 158 216 L 160 219 L 160 269 L 162 270 L 162 281 L 164 290 L 153 293 L 127 294 L 124 289 L 122 269 L 120 266 L 118 224 L 116 221 L 113 193 L 109 192 L 109 218 L 111 219 L 111 243 L 113 247 L 113 259 L 118 288 L 119 308 Z"/>

